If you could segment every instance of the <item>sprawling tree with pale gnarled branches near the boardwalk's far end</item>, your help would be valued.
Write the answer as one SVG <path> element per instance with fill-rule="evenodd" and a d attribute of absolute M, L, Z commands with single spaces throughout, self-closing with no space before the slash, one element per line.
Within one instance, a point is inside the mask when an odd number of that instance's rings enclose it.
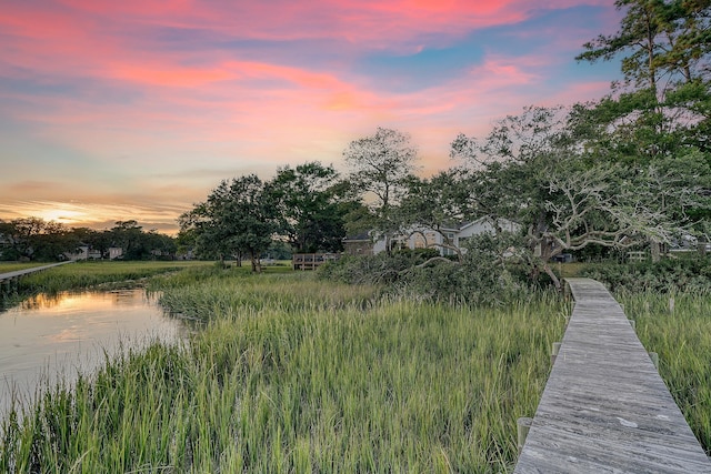
<path fill-rule="evenodd" d="M 624 249 L 647 240 L 669 243 L 684 232 L 690 221 L 682 214 L 701 205 L 700 188 L 674 185 L 671 177 L 699 181 L 703 171 L 698 160 L 694 167 L 661 174 L 654 168 L 590 161 L 564 122 L 554 118 L 551 111 L 525 109 L 499 122 L 483 143 L 459 137 L 452 152 L 477 153 L 469 159 L 477 163 L 479 186 L 499 196 L 490 212 L 525 229 L 525 258 L 533 274 L 541 266 L 559 286 L 549 262 L 562 252 L 591 244 Z M 659 184 L 650 188 L 653 173 Z M 658 202 L 661 192 L 668 205 Z"/>

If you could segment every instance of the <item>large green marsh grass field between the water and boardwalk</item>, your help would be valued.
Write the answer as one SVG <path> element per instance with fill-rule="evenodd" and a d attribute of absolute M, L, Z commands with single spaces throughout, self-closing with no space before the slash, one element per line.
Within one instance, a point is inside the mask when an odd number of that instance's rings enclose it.
<path fill-rule="evenodd" d="M 294 273 L 160 280 L 204 329 L 16 407 L 0 471 L 505 472 L 564 324 L 550 294 L 472 309 Z"/>

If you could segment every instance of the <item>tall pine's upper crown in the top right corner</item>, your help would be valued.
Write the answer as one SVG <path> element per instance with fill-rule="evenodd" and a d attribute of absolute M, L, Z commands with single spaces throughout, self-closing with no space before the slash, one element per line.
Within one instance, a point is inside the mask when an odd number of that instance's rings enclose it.
<path fill-rule="evenodd" d="M 648 163 L 693 145 L 708 148 L 711 4 L 690 0 L 618 0 L 620 30 L 583 46 L 580 61 L 622 56 L 615 97 L 579 110 L 579 124 L 597 124 L 595 140 L 627 161 Z M 591 138 L 589 137 L 590 141 Z"/>

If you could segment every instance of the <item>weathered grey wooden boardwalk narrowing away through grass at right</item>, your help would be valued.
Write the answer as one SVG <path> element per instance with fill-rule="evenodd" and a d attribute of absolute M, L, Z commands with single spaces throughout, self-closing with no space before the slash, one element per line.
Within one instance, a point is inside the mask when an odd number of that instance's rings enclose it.
<path fill-rule="evenodd" d="M 622 307 L 567 283 L 575 307 L 514 473 L 711 473 Z"/>

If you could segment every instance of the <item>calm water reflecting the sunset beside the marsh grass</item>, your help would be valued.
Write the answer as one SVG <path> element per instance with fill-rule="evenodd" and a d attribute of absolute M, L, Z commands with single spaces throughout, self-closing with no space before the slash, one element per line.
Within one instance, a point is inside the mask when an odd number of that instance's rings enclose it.
<path fill-rule="evenodd" d="M 0 312 L 0 415 L 12 396 L 28 401 L 38 384 L 72 382 L 123 347 L 157 337 L 178 341 L 182 324 L 143 290 L 39 295 Z"/>

